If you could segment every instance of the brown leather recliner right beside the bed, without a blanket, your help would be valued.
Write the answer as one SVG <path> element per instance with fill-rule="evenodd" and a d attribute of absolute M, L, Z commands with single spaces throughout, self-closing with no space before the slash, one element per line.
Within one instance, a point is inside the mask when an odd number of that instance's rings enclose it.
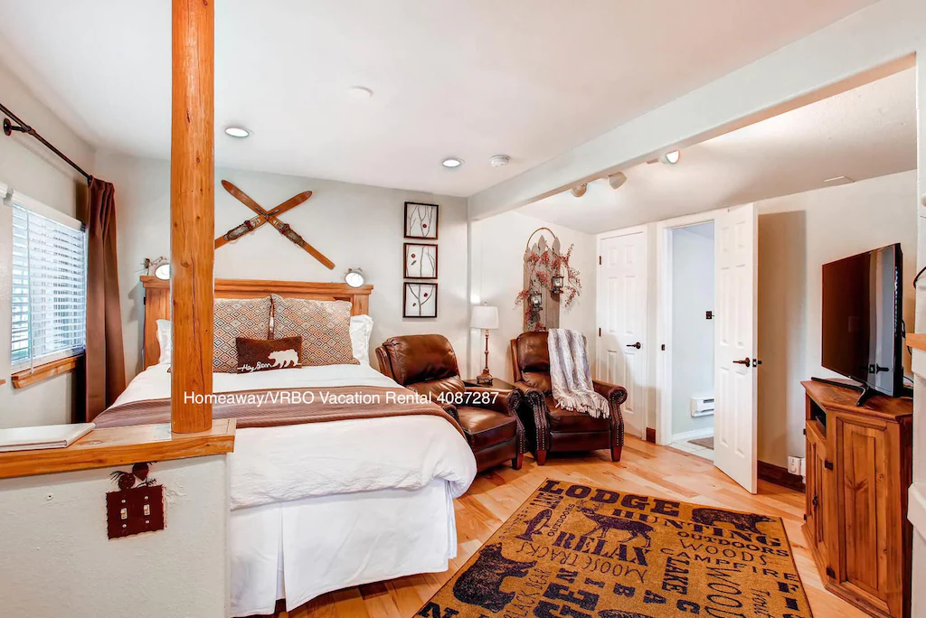
<path fill-rule="evenodd" d="M 519 470 L 527 450 L 518 417 L 519 390 L 468 387 L 457 366 L 457 354 L 443 335 L 407 335 L 385 340 L 376 349 L 380 372 L 441 403 L 466 433 L 480 472 L 506 461 Z"/>

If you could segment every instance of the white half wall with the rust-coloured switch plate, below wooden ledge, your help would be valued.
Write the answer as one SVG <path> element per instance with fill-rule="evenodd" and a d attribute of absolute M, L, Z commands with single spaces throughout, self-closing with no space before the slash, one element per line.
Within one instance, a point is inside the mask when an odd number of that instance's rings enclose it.
<path fill-rule="evenodd" d="M 165 529 L 106 538 L 99 468 L 0 481 L 0 599 L 9 618 L 224 618 L 226 456 L 154 464 Z"/>

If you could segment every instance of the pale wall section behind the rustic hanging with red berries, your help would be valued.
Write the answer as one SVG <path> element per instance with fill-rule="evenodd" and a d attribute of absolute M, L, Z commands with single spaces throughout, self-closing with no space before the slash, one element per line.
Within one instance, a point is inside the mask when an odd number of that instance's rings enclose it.
<path fill-rule="evenodd" d="M 594 269 L 598 263 L 594 236 L 508 212 L 470 224 L 470 298 L 474 304 L 498 307 L 500 328 L 489 334 L 489 368 L 493 376 L 507 381 L 512 379 L 510 341 L 524 330 L 523 309 L 515 305 L 515 297 L 524 285 L 524 247 L 532 232 L 542 227 L 553 229 L 562 251 L 575 245 L 570 266 L 578 268 L 582 275 L 582 294 L 569 309 L 560 308 L 559 327 L 582 331 L 588 340 L 590 358 L 594 359 Z M 471 330 L 470 337 L 469 376 L 473 377 L 482 372 L 485 333 Z"/>

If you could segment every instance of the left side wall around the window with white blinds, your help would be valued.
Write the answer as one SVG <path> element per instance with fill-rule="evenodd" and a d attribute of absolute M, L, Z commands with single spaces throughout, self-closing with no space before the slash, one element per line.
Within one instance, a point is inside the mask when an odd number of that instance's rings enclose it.
<path fill-rule="evenodd" d="M 3 104 L 45 139 L 93 173 L 94 150 L 0 65 Z M 0 135 L 0 181 L 44 204 L 76 216 L 86 182 L 61 159 L 29 136 Z M 53 377 L 25 389 L 10 385 L 12 211 L 0 205 L 0 427 L 69 423 L 73 414 L 74 374 Z"/>

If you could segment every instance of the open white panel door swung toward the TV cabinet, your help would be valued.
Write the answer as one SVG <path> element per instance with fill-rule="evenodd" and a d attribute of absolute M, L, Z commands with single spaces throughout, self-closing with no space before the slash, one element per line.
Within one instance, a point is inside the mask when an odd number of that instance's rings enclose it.
<path fill-rule="evenodd" d="M 755 204 L 717 217 L 714 464 L 751 493 L 757 470 Z"/>

